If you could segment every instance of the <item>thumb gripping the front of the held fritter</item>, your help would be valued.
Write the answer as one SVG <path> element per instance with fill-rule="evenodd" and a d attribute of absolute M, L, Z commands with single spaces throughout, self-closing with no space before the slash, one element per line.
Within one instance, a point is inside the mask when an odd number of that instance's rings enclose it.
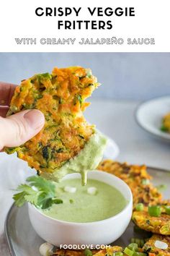
<path fill-rule="evenodd" d="M 40 132 L 44 123 L 44 115 L 37 109 L 0 117 L 0 150 L 5 146 L 17 147 L 24 144 Z"/>

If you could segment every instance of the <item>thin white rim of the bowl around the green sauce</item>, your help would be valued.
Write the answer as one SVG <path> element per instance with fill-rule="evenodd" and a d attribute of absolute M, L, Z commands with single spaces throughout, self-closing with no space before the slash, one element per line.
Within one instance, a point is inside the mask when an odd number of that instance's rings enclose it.
<path fill-rule="evenodd" d="M 127 191 L 128 191 L 128 195 L 129 195 L 130 198 L 129 198 L 129 200 L 126 200 L 127 204 L 125 205 L 125 208 L 123 208 L 120 211 L 120 213 L 117 213 L 115 216 L 111 216 L 109 218 L 104 218 L 104 220 L 101 220 L 101 221 L 71 222 L 71 221 L 62 221 L 62 220 L 58 220 L 57 218 L 53 218 L 53 217 L 47 216 L 45 213 L 42 212 L 41 209 L 38 209 L 35 205 L 32 205 L 30 202 L 28 202 L 29 208 L 33 208 L 34 210 L 37 211 L 37 213 L 40 214 L 40 216 L 43 216 L 43 217 L 47 218 L 50 221 L 55 221 L 56 223 L 66 224 L 66 225 L 69 225 L 69 226 L 79 226 L 79 225 L 81 225 L 81 226 L 87 226 L 87 225 L 88 226 L 89 225 L 92 226 L 92 225 L 95 225 L 95 224 L 104 223 L 104 222 L 107 222 L 107 221 L 111 221 L 113 219 L 117 219 L 117 218 L 119 218 L 120 216 L 122 216 L 125 213 L 125 211 L 130 207 L 130 205 L 132 205 L 132 209 L 131 209 L 131 211 L 132 211 L 133 210 L 133 194 L 132 194 L 131 189 L 128 186 L 128 184 L 126 184 L 122 179 L 118 178 L 114 174 L 109 174 L 109 173 L 107 173 L 105 171 L 100 171 L 100 170 L 94 170 L 94 171 L 97 172 L 97 173 L 102 173 L 102 175 L 104 174 L 106 176 L 109 176 L 110 178 L 114 177 L 114 179 L 119 180 L 119 182 L 121 182 L 123 184 L 123 186 L 125 186 Z M 89 172 L 91 172 L 91 171 L 89 171 Z M 75 173 L 73 173 L 73 174 L 75 174 Z M 69 175 L 72 175 L 72 174 L 69 174 Z M 64 178 L 66 178 L 66 176 Z M 92 179 L 94 179 L 94 178 L 92 178 Z M 107 182 L 104 182 L 104 183 L 107 184 Z M 112 186 L 112 185 L 110 185 L 110 186 Z M 114 187 L 114 186 L 112 186 L 112 187 Z M 117 190 L 119 190 L 119 189 L 117 189 Z"/>

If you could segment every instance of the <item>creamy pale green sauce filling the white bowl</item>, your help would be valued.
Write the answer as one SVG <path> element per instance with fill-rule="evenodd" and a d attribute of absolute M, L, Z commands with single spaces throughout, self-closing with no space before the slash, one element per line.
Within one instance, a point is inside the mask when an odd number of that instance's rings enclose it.
<path fill-rule="evenodd" d="M 76 192 L 65 192 L 67 186 L 76 187 Z M 95 187 L 97 192 L 89 194 L 89 187 Z M 64 180 L 57 185 L 56 196 L 63 200 L 63 204 L 53 205 L 43 213 L 69 222 L 102 221 L 120 213 L 127 204 L 125 197 L 115 187 L 94 179 L 88 179 L 85 187 L 81 186 L 80 179 Z"/>

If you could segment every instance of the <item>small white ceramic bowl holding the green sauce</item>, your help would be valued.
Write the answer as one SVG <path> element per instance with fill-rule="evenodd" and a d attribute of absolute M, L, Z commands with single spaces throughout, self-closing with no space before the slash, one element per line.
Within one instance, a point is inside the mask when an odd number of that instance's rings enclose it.
<path fill-rule="evenodd" d="M 68 174 L 64 179 L 79 178 L 79 174 Z M 96 179 L 117 188 L 127 200 L 125 208 L 116 216 L 103 221 L 73 223 L 50 218 L 29 204 L 29 216 L 37 234 L 47 242 L 61 244 L 110 244 L 118 239 L 130 222 L 133 210 L 133 195 L 125 182 L 104 171 L 89 171 L 88 179 Z"/>

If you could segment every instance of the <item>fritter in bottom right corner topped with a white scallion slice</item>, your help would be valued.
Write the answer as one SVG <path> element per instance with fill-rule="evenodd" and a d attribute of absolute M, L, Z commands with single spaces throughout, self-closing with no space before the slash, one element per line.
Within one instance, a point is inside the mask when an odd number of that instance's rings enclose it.
<path fill-rule="evenodd" d="M 166 249 L 161 249 L 160 242 L 167 244 Z M 166 244 L 163 244 L 166 246 Z M 149 239 L 143 246 L 143 251 L 148 252 L 149 256 L 170 256 L 170 236 L 162 236 L 158 234 L 153 234 L 151 239 Z"/>

